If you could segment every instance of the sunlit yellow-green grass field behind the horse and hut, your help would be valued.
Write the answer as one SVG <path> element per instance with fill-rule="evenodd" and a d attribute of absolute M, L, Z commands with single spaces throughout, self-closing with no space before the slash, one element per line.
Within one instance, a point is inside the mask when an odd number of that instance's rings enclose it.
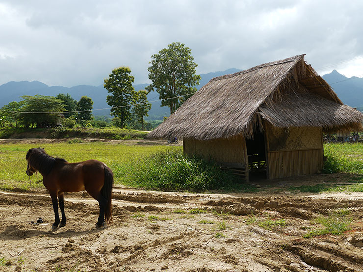
<path fill-rule="evenodd" d="M 1 190 L 29 190 L 29 178 L 26 175 L 25 155 L 29 148 L 34 148 L 34 144 L 1 144 L 0 145 L 0 189 Z M 139 160 L 143 164 L 148 162 L 144 159 L 157 151 L 167 149 L 181 150 L 182 147 L 170 146 L 145 146 L 115 144 L 112 142 L 91 142 L 79 143 L 69 141 L 62 143 L 48 143 L 45 146 L 48 154 L 54 157 L 65 158 L 69 162 L 78 162 L 87 159 L 97 159 L 103 161 L 112 168 L 115 176 L 115 184 L 134 186 L 133 180 L 129 180 L 135 173 L 135 165 Z M 325 144 L 324 155 L 328 160 L 324 164 L 326 173 L 352 173 L 356 174 L 354 179 L 347 180 L 351 184 L 335 184 L 336 181 L 312 186 L 291 187 L 291 192 L 363 192 L 363 144 Z M 179 160 L 176 157 L 176 160 Z M 189 164 L 183 161 L 183 164 Z M 177 169 L 177 166 L 174 167 Z M 140 168 L 139 168 L 140 169 Z M 149 170 L 148 170 L 149 171 Z M 42 188 L 43 184 L 40 174 L 32 178 L 32 188 Z M 155 188 L 156 189 L 156 188 Z M 163 189 L 163 188 L 160 188 Z M 165 188 L 164 188 L 165 189 Z M 236 188 L 238 189 L 238 188 Z M 241 189 L 241 188 L 239 188 Z M 244 188 L 253 191 L 252 187 Z"/>

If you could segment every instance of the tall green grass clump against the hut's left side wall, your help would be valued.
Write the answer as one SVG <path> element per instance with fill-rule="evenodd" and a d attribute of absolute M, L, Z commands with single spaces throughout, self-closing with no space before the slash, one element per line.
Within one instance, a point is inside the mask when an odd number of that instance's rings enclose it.
<path fill-rule="evenodd" d="M 233 186 L 232 173 L 213 162 L 184 156 L 180 149 L 159 151 L 128 167 L 123 183 L 132 187 L 165 191 L 202 192 Z"/>

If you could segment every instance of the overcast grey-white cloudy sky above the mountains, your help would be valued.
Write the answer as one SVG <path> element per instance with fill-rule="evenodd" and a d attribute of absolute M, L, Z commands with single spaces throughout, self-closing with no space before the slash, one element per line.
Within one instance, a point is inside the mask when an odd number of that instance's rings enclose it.
<path fill-rule="evenodd" d="M 0 0 L 0 85 L 101 85 L 184 43 L 197 74 L 306 54 L 320 75 L 363 77 L 362 0 Z"/>

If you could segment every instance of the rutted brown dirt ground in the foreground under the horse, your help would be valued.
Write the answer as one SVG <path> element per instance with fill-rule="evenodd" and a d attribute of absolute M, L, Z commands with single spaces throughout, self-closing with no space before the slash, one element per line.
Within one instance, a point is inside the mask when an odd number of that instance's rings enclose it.
<path fill-rule="evenodd" d="M 116 188 L 113 223 L 105 229 L 95 228 L 98 206 L 87 194 L 65 200 L 67 225 L 52 231 L 45 191 L 0 192 L 0 271 L 363 271 L 362 193 L 264 197 Z M 350 211 L 350 231 L 303 239 L 316 228 L 312 218 L 339 209 Z M 32 224 L 38 217 L 44 223 Z M 287 225 L 266 230 L 258 224 L 265 219 Z"/>

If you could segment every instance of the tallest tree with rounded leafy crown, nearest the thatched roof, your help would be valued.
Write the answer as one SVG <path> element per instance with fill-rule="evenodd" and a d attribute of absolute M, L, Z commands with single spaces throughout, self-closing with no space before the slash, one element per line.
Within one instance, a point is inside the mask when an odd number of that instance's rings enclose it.
<path fill-rule="evenodd" d="M 148 67 L 149 79 L 152 81 L 146 90 L 154 88 L 159 93 L 162 106 L 170 107 L 170 114 L 176 111 L 186 99 L 195 93 L 195 85 L 199 85 L 200 75 L 195 74 L 198 66 L 191 55 L 191 49 L 179 42 L 168 45 L 151 56 Z M 174 98 L 181 96 L 179 98 Z"/>

